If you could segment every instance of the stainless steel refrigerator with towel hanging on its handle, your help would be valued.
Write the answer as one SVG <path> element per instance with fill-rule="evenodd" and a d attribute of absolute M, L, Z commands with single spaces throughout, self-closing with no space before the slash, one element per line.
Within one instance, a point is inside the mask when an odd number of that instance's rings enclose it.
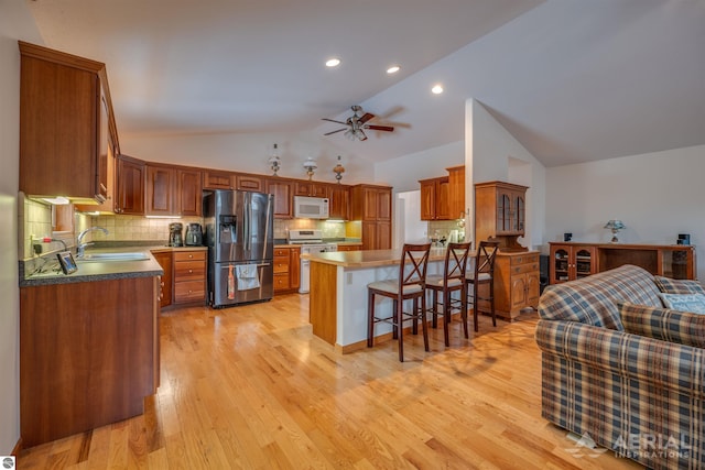
<path fill-rule="evenodd" d="M 246 190 L 204 193 L 208 303 L 227 307 L 274 293 L 274 196 Z"/>

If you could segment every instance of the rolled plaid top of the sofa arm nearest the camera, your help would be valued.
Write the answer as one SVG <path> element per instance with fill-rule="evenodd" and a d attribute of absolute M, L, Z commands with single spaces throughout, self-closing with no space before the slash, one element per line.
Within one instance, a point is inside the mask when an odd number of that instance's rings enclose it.
<path fill-rule="evenodd" d="M 575 321 L 536 324 L 539 348 L 655 386 L 705 397 L 705 350 Z"/>

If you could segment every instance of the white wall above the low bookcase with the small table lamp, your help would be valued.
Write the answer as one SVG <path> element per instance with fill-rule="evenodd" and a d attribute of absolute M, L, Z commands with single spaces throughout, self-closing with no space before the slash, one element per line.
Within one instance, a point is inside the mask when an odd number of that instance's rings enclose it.
<path fill-rule="evenodd" d="M 705 145 L 546 170 L 544 242 L 609 242 L 604 228 L 621 219 L 625 243 L 673 244 L 690 233 L 705 278 Z"/>

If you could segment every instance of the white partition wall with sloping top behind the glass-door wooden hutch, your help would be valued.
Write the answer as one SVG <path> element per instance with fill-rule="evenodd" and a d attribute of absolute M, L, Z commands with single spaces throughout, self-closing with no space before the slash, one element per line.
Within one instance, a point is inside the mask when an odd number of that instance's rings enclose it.
<path fill-rule="evenodd" d="M 502 181 L 529 186 L 527 236 L 520 243 L 540 248 L 545 223 L 545 167 L 474 99 L 466 102 L 466 182 Z M 466 184 L 465 190 L 466 200 L 474 200 L 473 185 Z"/>

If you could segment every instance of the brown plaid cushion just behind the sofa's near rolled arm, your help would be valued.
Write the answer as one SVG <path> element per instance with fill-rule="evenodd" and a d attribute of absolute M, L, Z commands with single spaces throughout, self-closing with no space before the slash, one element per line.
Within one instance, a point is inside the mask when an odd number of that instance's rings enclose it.
<path fill-rule="evenodd" d="M 617 306 L 627 332 L 705 348 L 705 315 L 628 302 Z"/>

